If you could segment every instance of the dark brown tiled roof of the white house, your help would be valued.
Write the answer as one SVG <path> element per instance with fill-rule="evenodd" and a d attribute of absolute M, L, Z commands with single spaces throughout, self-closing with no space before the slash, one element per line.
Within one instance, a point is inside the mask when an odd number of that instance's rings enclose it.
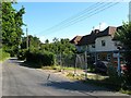
<path fill-rule="evenodd" d="M 95 44 L 97 37 L 111 36 L 114 38 L 116 30 L 121 28 L 115 26 L 108 26 L 106 29 L 99 32 L 99 29 L 92 30 L 90 35 L 85 36 L 75 36 L 70 42 L 75 44 L 76 46 L 92 45 Z"/>

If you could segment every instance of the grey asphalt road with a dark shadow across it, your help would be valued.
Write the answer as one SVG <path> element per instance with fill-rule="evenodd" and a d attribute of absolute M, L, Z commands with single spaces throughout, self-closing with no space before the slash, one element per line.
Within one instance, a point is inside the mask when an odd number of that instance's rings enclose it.
<path fill-rule="evenodd" d="M 2 96 L 90 96 L 91 98 L 127 96 L 90 84 L 72 82 L 53 73 L 47 81 L 48 72 L 21 64 L 16 59 L 10 59 L 2 63 Z"/>

